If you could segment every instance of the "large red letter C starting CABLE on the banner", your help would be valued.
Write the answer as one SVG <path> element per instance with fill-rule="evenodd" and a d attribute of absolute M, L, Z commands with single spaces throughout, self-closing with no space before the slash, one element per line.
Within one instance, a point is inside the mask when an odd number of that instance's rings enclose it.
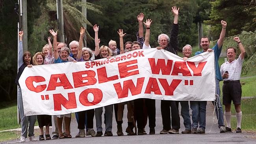
<path fill-rule="evenodd" d="M 34 87 L 33 81 L 35 81 L 36 83 L 43 82 L 43 81 L 45 81 L 44 77 L 30 76 L 26 79 L 25 83 L 26 83 L 27 88 L 33 92 L 42 92 L 43 90 L 45 90 L 46 85 L 37 85 L 37 87 Z"/>

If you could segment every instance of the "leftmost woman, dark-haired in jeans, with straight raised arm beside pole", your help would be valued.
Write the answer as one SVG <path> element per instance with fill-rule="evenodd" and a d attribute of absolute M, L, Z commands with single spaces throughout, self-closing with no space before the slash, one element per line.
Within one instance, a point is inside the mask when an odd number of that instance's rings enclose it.
<path fill-rule="evenodd" d="M 29 137 L 30 141 L 37 140 L 34 137 L 34 126 L 35 126 L 35 121 L 37 120 L 37 117 L 36 116 L 24 116 L 24 109 L 23 109 L 23 103 L 22 103 L 22 94 L 21 94 L 21 89 L 20 89 L 20 84 L 19 84 L 19 78 L 20 78 L 22 72 L 24 71 L 24 69 L 28 65 L 31 65 L 32 55 L 28 51 L 24 52 L 24 54 L 23 54 L 22 36 L 23 36 L 23 31 L 19 31 L 19 52 L 18 52 L 19 72 L 17 74 L 17 78 L 15 79 L 15 83 L 19 86 L 19 90 L 18 90 L 18 94 L 17 94 L 17 102 L 18 102 L 18 108 L 19 108 L 19 115 L 20 115 L 20 119 L 21 119 L 20 142 L 25 142 L 27 133 L 28 133 L 28 137 Z M 28 125 L 29 125 L 29 128 L 28 128 Z"/>

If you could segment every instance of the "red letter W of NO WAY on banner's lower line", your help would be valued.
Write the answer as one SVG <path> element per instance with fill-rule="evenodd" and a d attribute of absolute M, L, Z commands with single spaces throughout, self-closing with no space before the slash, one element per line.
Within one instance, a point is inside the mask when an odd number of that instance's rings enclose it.
<path fill-rule="evenodd" d="M 132 96 L 140 94 L 144 79 L 145 78 L 138 78 L 136 87 L 132 79 L 124 81 L 123 89 L 122 89 L 121 83 L 115 83 L 114 87 L 115 87 L 115 91 L 117 92 L 118 98 L 127 97 L 129 89 L 130 89 L 130 92 L 132 93 Z"/>

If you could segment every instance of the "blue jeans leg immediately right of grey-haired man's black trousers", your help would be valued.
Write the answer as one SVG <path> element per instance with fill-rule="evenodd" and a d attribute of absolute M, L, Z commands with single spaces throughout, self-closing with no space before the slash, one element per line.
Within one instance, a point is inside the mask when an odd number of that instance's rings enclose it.
<path fill-rule="evenodd" d="M 181 115 L 184 120 L 183 124 L 185 129 L 191 130 L 191 120 L 189 115 L 189 105 L 188 101 L 180 101 L 181 105 Z"/>

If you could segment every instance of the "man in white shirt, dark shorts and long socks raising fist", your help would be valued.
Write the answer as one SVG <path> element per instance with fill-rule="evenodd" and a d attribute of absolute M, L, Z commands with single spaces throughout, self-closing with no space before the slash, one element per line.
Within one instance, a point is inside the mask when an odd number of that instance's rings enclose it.
<path fill-rule="evenodd" d="M 223 84 L 223 104 L 225 105 L 225 117 L 226 117 L 226 131 L 231 130 L 231 101 L 233 101 L 236 109 L 236 119 L 237 119 L 237 129 L 236 133 L 241 133 L 241 120 L 242 120 L 242 111 L 241 111 L 241 83 L 239 81 L 243 59 L 245 57 L 245 48 L 241 43 L 239 37 L 234 37 L 234 41 L 237 42 L 241 54 L 238 59 L 236 57 L 236 48 L 227 49 L 228 61 L 221 65 L 221 76 L 224 80 Z"/>

